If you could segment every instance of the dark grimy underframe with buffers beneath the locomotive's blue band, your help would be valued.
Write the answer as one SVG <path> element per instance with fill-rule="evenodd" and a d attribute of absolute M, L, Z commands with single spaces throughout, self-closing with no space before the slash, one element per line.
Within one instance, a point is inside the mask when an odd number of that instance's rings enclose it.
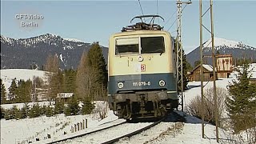
<path fill-rule="evenodd" d="M 178 100 L 170 99 L 166 90 L 138 91 L 114 94 L 111 103 L 119 118 L 160 118 L 178 107 Z"/>

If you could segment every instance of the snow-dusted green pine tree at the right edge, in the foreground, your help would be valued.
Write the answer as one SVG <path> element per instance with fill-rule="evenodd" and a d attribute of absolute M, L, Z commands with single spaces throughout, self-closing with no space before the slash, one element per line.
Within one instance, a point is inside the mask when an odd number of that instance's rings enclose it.
<path fill-rule="evenodd" d="M 246 130 L 256 126 L 256 86 L 249 82 L 248 62 L 243 62 L 238 71 L 238 81 L 230 83 L 230 97 L 226 98 L 227 110 L 234 126 L 234 131 Z"/>

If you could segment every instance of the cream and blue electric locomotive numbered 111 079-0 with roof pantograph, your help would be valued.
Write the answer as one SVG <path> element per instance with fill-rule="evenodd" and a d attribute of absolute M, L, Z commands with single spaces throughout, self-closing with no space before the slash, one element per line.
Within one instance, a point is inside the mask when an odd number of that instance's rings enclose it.
<path fill-rule="evenodd" d="M 143 15 L 110 36 L 108 101 L 119 118 L 159 118 L 178 107 L 174 39 Z M 151 18 L 150 23 L 143 22 Z M 162 18 L 163 19 L 163 18 Z"/>

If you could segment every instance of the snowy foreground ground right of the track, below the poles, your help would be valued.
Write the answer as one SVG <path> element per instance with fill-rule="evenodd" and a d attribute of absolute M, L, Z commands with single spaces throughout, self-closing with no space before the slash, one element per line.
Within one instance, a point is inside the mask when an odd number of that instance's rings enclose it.
<path fill-rule="evenodd" d="M 118 143 L 153 143 L 153 144 L 170 144 L 170 143 L 211 143 L 217 144 L 215 136 L 215 126 L 206 125 L 205 134 L 208 138 L 202 138 L 201 120 L 198 118 L 186 115 L 187 122 L 161 122 L 150 130 L 146 130 L 141 134 L 135 135 L 132 138 L 123 138 Z M 230 138 L 223 130 L 219 130 L 220 142 L 230 142 Z"/>

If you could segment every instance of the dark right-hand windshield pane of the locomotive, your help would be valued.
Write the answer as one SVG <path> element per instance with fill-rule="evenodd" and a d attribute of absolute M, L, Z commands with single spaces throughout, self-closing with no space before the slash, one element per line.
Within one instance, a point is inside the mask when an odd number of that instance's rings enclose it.
<path fill-rule="evenodd" d="M 165 45 L 163 37 L 141 38 L 141 54 L 164 53 Z"/>

